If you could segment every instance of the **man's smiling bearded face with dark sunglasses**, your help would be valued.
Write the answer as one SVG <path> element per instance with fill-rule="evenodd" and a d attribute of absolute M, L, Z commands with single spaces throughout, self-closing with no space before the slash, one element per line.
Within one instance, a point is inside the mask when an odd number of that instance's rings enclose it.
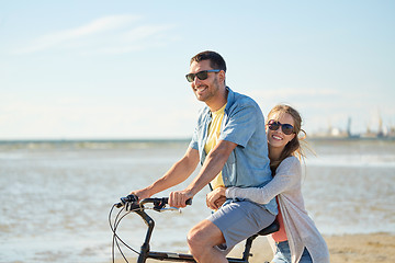
<path fill-rule="evenodd" d="M 202 70 L 210 69 L 213 69 L 210 66 L 210 60 L 203 60 L 200 62 L 193 61 L 190 67 L 190 73 L 198 73 Z M 207 104 L 210 101 L 215 100 L 216 95 L 219 94 L 218 73 L 208 72 L 208 77 L 205 80 L 200 80 L 198 77 L 195 77 L 191 82 L 191 87 L 193 93 L 196 95 L 196 99 Z"/>

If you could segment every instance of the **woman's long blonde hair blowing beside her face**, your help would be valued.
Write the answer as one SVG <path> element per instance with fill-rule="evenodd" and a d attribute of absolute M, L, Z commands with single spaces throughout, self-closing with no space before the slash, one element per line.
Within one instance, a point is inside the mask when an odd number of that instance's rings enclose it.
<path fill-rule="evenodd" d="M 303 158 L 305 158 L 305 153 L 301 147 L 301 141 L 303 141 L 306 138 L 306 132 L 304 132 L 302 129 L 302 117 L 301 114 L 293 108 L 290 105 L 285 105 L 285 104 L 279 104 L 275 105 L 268 115 L 268 122 L 271 118 L 271 116 L 273 116 L 274 114 L 279 114 L 278 116 L 280 117 L 282 114 L 290 114 L 294 121 L 294 134 L 295 137 L 285 145 L 284 149 L 282 150 L 281 155 L 280 155 L 280 159 L 275 160 L 275 161 L 270 161 L 270 169 L 272 170 L 273 174 L 275 173 L 275 169 L 280 165 L 280 163 L 287 157 L 294 156 L 297 159 L 302 160 Z M 276 119 L 275 119 L 276 121 Z M 300 137 L 300 133 L 303 133 L 304 136 Z"/>

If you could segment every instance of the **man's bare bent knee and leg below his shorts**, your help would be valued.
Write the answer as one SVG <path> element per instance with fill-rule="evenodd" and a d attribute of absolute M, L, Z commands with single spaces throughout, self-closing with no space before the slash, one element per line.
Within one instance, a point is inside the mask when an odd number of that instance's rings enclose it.
<path fill-rule="evenodd" d="M 200 263 L 227 263 L 226 256 L 215 245 L 225 243 L 219 228 L 210 220 L 203 220 L 188 233 L 188 245 Z"/>

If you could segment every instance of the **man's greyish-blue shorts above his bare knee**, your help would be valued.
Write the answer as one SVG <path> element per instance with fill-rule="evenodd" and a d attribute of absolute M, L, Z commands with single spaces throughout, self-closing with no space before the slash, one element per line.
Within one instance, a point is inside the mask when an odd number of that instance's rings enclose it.
<path fill-rule="evenodd" d="M 224 236 L 226 243 L 218 248 L 227 250 L 270 226 L 275 216 L 261 205 L 240 201 L 222 206 L 207 219 L 217 226 Z"/>

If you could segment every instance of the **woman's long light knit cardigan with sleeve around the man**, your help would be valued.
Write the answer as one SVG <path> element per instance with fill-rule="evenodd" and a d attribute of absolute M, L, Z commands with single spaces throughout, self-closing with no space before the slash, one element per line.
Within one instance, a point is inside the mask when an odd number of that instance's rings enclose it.
<path fill-rule="evenodd" d="M 275 170 L 275 176 L 263 187 L 229 187 L 228 198 L 248 198 L 258 204 L 267 204 L 278 196 L 289 240 L 292 263 L 300 261 L 307 248 L 313 262 L 329 263 L 329 251 L 314 221 L 308 216 L 302 196 L 302 167 L 296 157 L 284 159 Z M 275 242 L 269 237 L 275 253 Z"/>

